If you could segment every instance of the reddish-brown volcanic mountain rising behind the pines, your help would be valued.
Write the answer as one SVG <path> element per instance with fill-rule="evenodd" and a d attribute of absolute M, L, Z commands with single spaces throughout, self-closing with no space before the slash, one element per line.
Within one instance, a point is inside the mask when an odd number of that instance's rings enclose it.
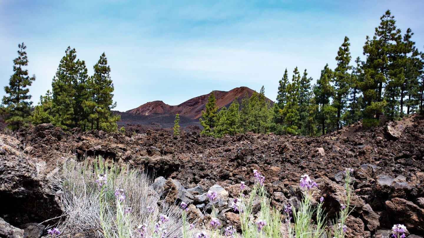
<path fill-rule="evenodd" d="M 243 99 L 246 92 L 249 97 L 251 97 L 254 93 L 254 91 L 248 87 L 239 87 L 230 91 L 216 90 L 214 91 L 216 105 L 218 108 L 222 108 L 223 106 L 228 107 L 236 97 L 238 102 L 241 104 L 241 100 Z M 185 116 L 191 119 L 198 119 L 202 116 L 202 111 L 205 108 L 209 95 L 210 93 L 194 97 L 176 106 L 167 105 L 163 101 L 147 102 L 138 108 L 134 108 L 126 112 L 146 116 L 151 114 L 175 115 L 176 113 L 179 113 L 180 116 Z M 273 104 L 273 101 L 268 98 L 267 100 Z"/>

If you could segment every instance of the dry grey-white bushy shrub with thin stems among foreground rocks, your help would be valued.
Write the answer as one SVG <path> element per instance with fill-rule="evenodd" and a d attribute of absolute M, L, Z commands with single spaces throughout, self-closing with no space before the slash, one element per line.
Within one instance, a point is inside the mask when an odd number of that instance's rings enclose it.
<path fill-rule="evenodd" d="M 149 237 L 153 230 L 147 228 L 163 216 L 169 221 L 161 224 L 162 231 L 169 237 L 181 237 L 181 211 L 162 201 L 152 182 L 137 169 L 110 165 L 100 157 L 94 163 L 67 161 L 60 176 L 51 179 L 53 188 L 63 191 L 65 216 L 56 229 L 61 235 L 133 238 L 140 237 L 143 224 L 147 224 L 142 237 Z"/>

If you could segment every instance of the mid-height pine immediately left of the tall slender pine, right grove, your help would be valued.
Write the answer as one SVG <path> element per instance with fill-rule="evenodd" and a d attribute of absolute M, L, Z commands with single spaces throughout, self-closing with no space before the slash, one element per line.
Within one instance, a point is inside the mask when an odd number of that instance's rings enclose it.
<path fill-rule="evenodd" d="M 326 121 L 332 117 L 332 106 L 330 105 L 330 98 L 334 95 L 334 87 L 332 86 L 333 71 L 329 68 L 328 64 L 321 70 L 321 77 L 317 80 L 314 87 L 315 103 L 319 106 L 316 114 L 317 121 L 321 122 L 322 135 L 326 133 Z"/>

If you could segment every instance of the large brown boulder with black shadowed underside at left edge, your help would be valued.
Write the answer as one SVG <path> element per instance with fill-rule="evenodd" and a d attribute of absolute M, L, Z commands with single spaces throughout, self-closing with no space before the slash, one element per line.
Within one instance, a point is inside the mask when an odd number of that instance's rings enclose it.
<path fill-rule="evenodd" d="M 60 216 L 62 210 L 44 175 L 20 150 L 17 139 L 0 135 L 0 216 L 18 226 Z"/>

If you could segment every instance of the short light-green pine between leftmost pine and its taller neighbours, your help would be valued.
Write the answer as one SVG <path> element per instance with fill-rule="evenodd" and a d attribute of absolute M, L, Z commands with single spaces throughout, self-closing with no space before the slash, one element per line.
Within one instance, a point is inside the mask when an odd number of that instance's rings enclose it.
<path fill-rule="evenodd" d="M 47 90 L 45 96 L 40 96 L 38 105 L 35 106 L 31 119 L 33 125 L 50 123 L 53 121 L 52 110 L 53 99 L 50 90 Z"/>

